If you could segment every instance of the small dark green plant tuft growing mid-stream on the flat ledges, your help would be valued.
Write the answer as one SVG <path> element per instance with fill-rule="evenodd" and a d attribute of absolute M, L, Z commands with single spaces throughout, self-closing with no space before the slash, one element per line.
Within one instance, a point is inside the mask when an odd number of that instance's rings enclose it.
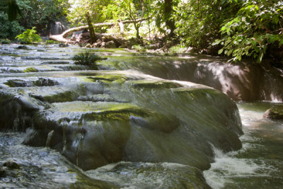
<path fill-rule="evenodd" d="M 90 66 L 93 69 L 98 69 L 96 61 L 99 59 L 101 59 L 101 57 L 96 54 L 91 54 L 90 52 L 81 52 L 78 55 L 74 55 L 73 57 L 75 64 Z"/>

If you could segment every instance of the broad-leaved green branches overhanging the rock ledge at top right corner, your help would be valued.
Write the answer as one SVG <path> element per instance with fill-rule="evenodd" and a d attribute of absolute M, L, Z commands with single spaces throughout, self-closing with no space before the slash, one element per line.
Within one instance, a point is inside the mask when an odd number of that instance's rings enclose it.
<path fill-rule="evenodd" d="M 283 3 L 282 1 L 246 1 L 235 17 L 221 25 L 219 54 L 232 56 L 233 61 L 242 56 L 262 61 L 269 45 L 283 45 Z"/>

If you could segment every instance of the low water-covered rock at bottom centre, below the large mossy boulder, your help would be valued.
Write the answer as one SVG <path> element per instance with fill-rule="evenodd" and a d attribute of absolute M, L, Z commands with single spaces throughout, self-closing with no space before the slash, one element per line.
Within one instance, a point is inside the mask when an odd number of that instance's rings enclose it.
<path fill-rule="evenodd" d="M 197 182 L 192 183 L 198 179 L 197 171 L 196 168 L 182 164 L 122 161 L 86 171 L 86 175 L 103 181 L 112 181 L 121 188 L 128 189 L 192 188 L 191 184 L 202 188 Z"/>

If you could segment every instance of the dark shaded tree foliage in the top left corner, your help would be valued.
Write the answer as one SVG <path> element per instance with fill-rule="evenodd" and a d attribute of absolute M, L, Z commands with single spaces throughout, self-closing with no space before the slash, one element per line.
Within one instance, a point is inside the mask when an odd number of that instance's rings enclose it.
<path fill-rule="evenodd" d="M 0 38 L 13 39 L 33 26 L 46 33 L 50 23 L 62 20 L 68 7 L 68 0 L 0 1 Z"/>

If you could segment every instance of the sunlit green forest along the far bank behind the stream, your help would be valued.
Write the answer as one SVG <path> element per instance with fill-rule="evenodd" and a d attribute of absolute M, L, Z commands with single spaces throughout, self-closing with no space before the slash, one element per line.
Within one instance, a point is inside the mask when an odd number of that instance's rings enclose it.
<path fill-rule="evenodd" d="M 16 15 L 16 16 L 15 16 Z M 139 21 L 139 19 L 143 19 Z M 15 40 L 35 27 L 49 35 L 55 21 L 69 27 L 136 21 L 125 25 L 123 38 L 141 45 L 170 41 L 175 51 L 274 59 L 282 67 L 283 1 L 275 0 L 4 0 L 0 1 L 0 39 Z M 96 33 L 120 33 L 118 25 Z M 278 64 L 277 64 L 278 65 Z"/>

